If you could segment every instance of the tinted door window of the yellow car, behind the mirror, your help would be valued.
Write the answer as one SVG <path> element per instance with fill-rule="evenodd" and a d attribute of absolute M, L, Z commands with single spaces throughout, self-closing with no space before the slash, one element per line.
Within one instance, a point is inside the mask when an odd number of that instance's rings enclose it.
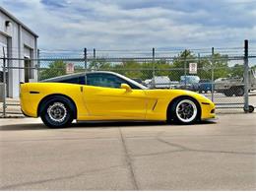
<path fill-rule="evenodd" d="M 87 75 L 87 85 L 104 87 L 104 88 L 120 88 L 121 84 L 128 84 L 132 89 L 138 89 L 133 84 L 111 75 L 111 74 L 88 74 Z"/>

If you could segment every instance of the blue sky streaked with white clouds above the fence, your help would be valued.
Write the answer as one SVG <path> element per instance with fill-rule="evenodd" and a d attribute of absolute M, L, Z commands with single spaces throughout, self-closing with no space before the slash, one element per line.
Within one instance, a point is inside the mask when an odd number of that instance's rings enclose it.
<path fill-rule="evenodd" d="M 256 47 L 256 0 L 0 0 L 42 49 Z"/>

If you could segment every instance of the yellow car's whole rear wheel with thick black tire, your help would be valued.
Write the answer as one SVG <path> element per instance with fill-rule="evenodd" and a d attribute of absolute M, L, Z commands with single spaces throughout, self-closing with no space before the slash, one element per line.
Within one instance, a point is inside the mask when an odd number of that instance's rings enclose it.
<path fill-rule="evenodd" d="M 42 122 L 50 128 L 64 128 L 74 119 L 75 106 L 65 96 L 51 96 L 44 101 L 40 108 Z"/>

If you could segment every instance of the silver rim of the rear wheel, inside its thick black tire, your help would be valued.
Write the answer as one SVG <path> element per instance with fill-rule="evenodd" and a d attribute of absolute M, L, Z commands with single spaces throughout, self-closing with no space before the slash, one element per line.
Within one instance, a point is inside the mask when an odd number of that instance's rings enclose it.
<path fill-rule="evenodd" d="M 61 102 L 54 102 L 47 108 L 47 113 L 52 121 L 63 122 L 67 116 L 67 108 Z"/>

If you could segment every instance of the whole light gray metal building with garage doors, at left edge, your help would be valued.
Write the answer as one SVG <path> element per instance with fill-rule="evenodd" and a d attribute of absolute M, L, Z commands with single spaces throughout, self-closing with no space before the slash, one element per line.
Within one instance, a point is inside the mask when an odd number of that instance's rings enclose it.
<path fill-rule="evenodd" d="M 6 66 L 7 96 L 19 97 L 20 82 L 36 81 L 37 72 L 33 69 L 37 58 L 38 35 L 16 17 L 0 7 L 0 57 L 19 58 L 8 60 Z M 19 67 L 17 69 L 15 67 Z M 3 60 L 0 59 L 1 80 L 3 81 Z"/>

